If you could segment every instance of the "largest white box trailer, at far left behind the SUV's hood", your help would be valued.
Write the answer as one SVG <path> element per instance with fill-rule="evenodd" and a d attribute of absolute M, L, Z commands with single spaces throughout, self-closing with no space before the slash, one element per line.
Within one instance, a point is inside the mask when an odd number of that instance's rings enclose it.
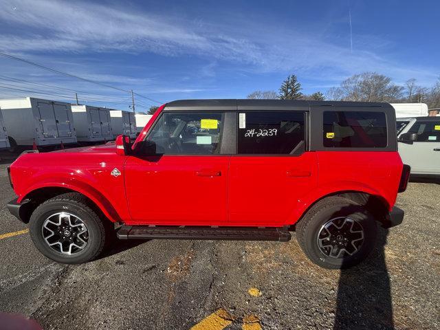
<path fill-rule="evenodd" d="M 5 127 L 14 146 L 76 143 L 69 103 L 39 98 L 0 99 Z"/>

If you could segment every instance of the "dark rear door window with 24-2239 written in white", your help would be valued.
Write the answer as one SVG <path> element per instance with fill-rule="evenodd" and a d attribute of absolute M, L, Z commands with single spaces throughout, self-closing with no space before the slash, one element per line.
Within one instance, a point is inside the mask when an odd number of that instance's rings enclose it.
<path fill-rule="evenodd" d="M 304 143 L 305 113 L 247 111 L 239 113 L 238 153 L 289 155 Z"/>

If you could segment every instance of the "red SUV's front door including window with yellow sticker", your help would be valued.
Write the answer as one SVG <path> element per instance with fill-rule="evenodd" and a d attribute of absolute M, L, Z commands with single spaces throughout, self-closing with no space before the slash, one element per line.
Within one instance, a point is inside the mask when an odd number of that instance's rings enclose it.
<path fill-rule="evenodd" d="M 164 112 L 147 139 L 157 155 L 131 155 L 125 164 L 133 222 L 155 225 L 224 225 L 228 163 L 219 155 L 223 114 Z"/>

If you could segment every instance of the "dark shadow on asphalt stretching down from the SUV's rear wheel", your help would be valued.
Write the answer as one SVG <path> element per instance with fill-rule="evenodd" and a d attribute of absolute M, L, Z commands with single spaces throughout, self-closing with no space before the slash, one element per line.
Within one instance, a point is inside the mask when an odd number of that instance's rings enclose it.
<path fill-rule="evenodd" d="M 333 329 L 394 329 L 384 254 L 387 236 L 388 229 L 378 228 L 377 244 L 369 258 L 341 270 Z"/>

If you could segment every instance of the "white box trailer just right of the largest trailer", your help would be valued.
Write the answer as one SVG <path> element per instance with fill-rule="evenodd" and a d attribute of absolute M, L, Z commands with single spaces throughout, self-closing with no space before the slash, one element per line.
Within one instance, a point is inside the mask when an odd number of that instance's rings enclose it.
<path fill-rule="evenodd" d="M 78 142 L 101 142 L 113 139 L 109 109 L 72 104 Z"/>

